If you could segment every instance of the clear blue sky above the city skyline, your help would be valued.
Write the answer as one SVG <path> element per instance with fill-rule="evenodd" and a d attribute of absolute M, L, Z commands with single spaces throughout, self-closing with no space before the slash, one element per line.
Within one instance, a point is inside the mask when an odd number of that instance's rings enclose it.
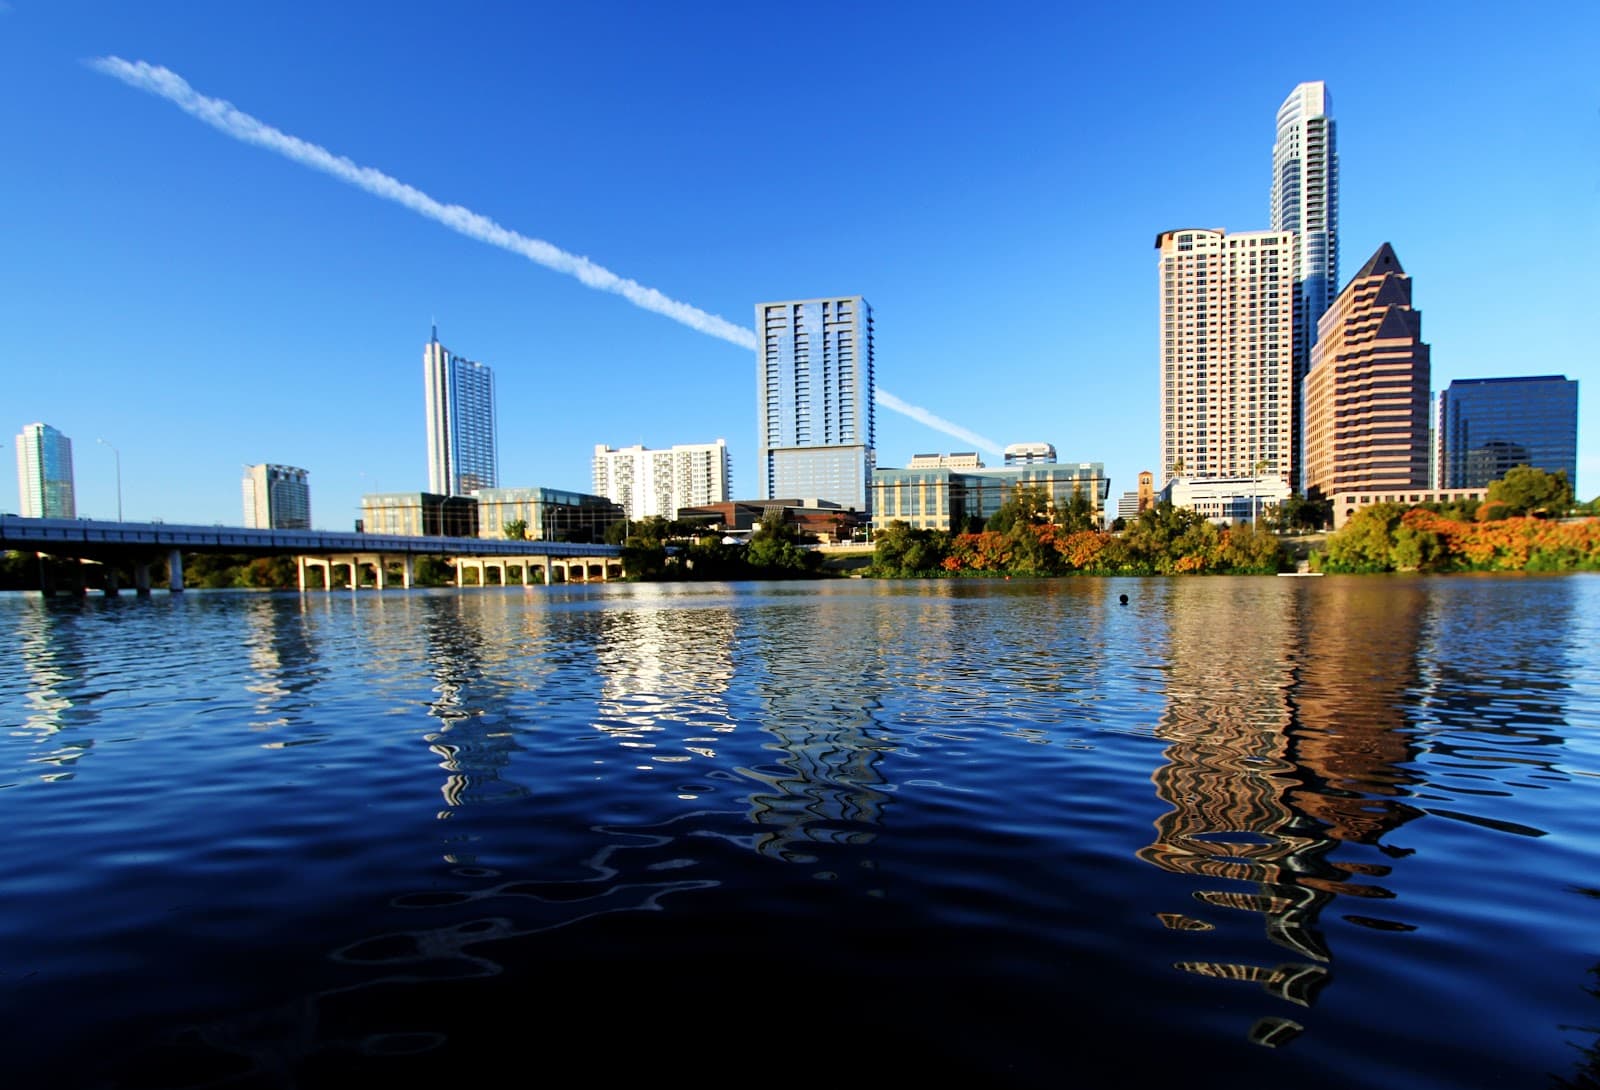
<path fill-rule="evenodd" d="M 883 391 L 995 443 L 1157 469 L 1171 227 L 1267 226 L 1274 115 L 1325 80 L 1341 277 L 1384 242 L 1434 389 L 1579 379 L 1600 491 L 1600 5 L 91 3 L 0 0 L 0 421 L 74 440 L 78 514 L 314 523 L 424 488 L 422 344 L 494 368 L 501 483 L 595 443 L 726 439 L 755 357 L 229 139 L 88 64 L 163 66 L 283 133 L 739 325 L 864 295 Z M 878 410 L 878 463 L 971 450 Z M 104 439 L 106 445 L 96 440 Z M 990 464 L 998 459 L 989 458 Z M 0 474 L 0 511 L 16 511 Z"/>

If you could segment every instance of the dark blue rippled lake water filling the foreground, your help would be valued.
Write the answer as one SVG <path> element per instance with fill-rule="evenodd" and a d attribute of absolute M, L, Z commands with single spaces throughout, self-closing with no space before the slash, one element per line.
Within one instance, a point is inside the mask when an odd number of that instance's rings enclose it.
<path fill-rule="evenodd" d="M 19 1090 L 1600 1077 L 1600 576 L 0 624 Z"/>

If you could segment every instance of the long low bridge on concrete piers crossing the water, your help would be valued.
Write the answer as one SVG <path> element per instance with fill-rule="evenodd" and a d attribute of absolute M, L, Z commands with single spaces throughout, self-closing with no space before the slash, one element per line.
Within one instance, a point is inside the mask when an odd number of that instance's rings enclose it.
<path fill-rule="evenodd" d="M 139 594 L 150 591 L 150 563 L 166 559 L 168 586 L 184 589 L 186 552 L 234 552 L 256 557 L 298 559 L 299 586 L 306 589 L 306 571 L 322 568 L 323 587 L 331 587 L 334 568 L 350 570 L 350 586 L 360 586 L 363 568 L 373 568 L 379 589 L 386 570 L 400 568 L 400 584 L 411 586 L 416 557 L 448 557 L 456 568 L 456 586 L 472 568 L 478 583 L 486 584 L 488 570 L 498 570 L 501 583 L 507 568 L 520 568 L 526 583 L 538 570 L 544 583 L 560 573 L 571 579 L 610 579 L 622 575 L 622 549 L 606 544 L 571 541 L 506 541 L 499 538 L 408 538 L 382 533 L 336 533 L 325 530 L 246 530 L 243 527 L 181 527 L 163 522 L 94 522 L 91 519 L 21 519 L 0 515 L 0 549 L 37 552 L 42 557 L 77 557 L 106 563 L 106 592 L 117 592 L 117 565 L 133 567 Z M 51 591 L 45 583 L 45 592 Z"/>

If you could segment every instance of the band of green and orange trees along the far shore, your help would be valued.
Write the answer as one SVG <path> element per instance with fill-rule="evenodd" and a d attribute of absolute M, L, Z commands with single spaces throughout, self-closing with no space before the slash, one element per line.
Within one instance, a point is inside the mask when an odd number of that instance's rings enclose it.
<path fill-rule="evenodd" d="M 806 547 L 811 543 L 800 528 L 784 520 L 728 543 L 698 523 L 654 517 L 616 523 L 608 541 L 622 547 L 630 581 L 1272 575 L 1301 565 L 1323 573 L 1600 571 L 1597 514 L 1600 498 L 1574 503 L 1565 472 L 1518 467 L 1491 482 L 1483 501 L 1374 504 L 1334 533 L 1326 531 L 1326 504 L 1299 498 L 1254 523 L 1232 527 L 1157 503 L 1107 530 L 1080 495 L 1053 504 L 1043 491 L 1022 488 L 992 517 L 960 531 L 891 522 L 874 535 L 870 557 L 854 562 Z M 506 530 L 525 533 L 518 525 Z M 38 565 L 34 554 L 0 555 L 0 589 L 38 589 Z M 296 586 L 296 565 L 293 557 L 194 554 L 184 560 L 184 581 L 210 589 L 288 589 Z M 414 584 L 454 581 L 443 557 L 418 559 Z"/>

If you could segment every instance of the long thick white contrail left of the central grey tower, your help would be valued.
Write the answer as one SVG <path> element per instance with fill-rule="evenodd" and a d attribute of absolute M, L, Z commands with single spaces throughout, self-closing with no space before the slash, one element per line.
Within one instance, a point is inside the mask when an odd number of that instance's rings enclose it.
<path fill-rule="evenodd" d="M 744 327 L 734 325 L 717 317 L 715 314 L 707 314 L 699 307 L 691 307 L 688 303 L 669 299 L 654 288 L 646 288 L 637 280 L 627 280 L 616 275 L 610 269 L 597 266 L 589 258 L 579 258 L 578 254 L 566 253 L 542 238 L 518 235 L 515 230 L 501 227 L 488 216 L 480 216 L 478 213 L 462 208 L 461 205 L 440 203 L 422 190 L 406 186 L 379 170 L 360 166 L 344 155 L 334 155 L 326 147 L 318 147 L 317 144 L 302 141 L 298 136 L 278 131 L 270 125 L 256 120 L 250 114 L 234 109 L 230 102 L 200 94 L 171 69 L 163 69 L 157 64 L 147 64 L 144 61 L 123 61 L 117 56 L 96 58 L 88 61 L 88 66 L 96 72 L 112 75 L 130 86 L 139 88 L 141 91 L 149 91 L 150 94 L 165 98 L 178 109 L 200 118 L 206 125 L 232 136 L 237 141 L 266 147 L 267 150 L 274 150 L 285 158 L 301 163 L 302 166 L 310 166 L 312 170 L 320 170 L 325 174 L 333 174 L 339 181 L 349 182 L 373 197 L 392 200 L 394 203 L 427 216 L 429 219 L 467 235 L 469 238 L 477 238 L 478 242 L 486 242 L 491 246 L 518 253 L 528 261 L 541 264 L 546 269 L 555 269 L 557 272 L 565 272 L 570 277 L 578 277 L 578 280 L 590 288 L 613 291 L 634 306 L 654 311 L 656 314 L 664 314 L 674 322 L 682 322 L 699 333 L 722 338 L 723 341 L 730 341 L 741 347 L 755 347 L 755 335 Z"/>

